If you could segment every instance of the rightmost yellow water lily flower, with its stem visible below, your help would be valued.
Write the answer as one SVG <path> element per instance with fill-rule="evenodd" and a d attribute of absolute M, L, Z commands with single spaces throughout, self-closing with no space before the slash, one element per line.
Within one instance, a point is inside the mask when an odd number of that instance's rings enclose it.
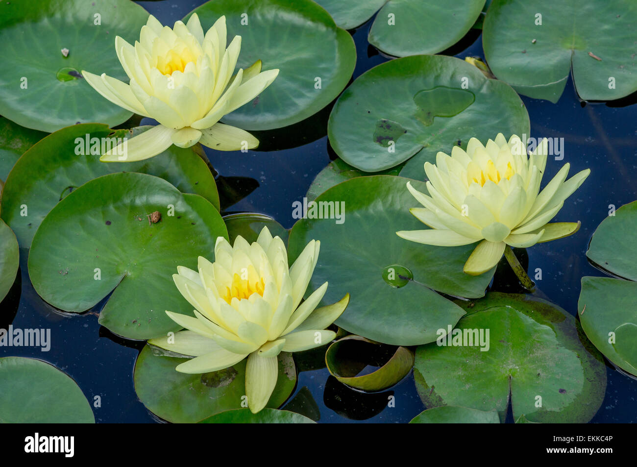
<path fill-rule="evenodd" d="M 500 133 L 485 146 L 471 138 L 466 152 L 457 146 L 450 156 L 439 152 L 436 164 L 425 163 L 429 194 L 407 183 L 424 206 L 411 212 L 431 229 L 400 231 L 398 236 L 445 247 L 480 241 L 464 264 L 464 272 L 479 275 L 497 264 L 507 245 L 531 247 L 575 233 L 579 222 L 548 221 L 582 185 L 590 169 L 566 180 L 570 164 L 564 164 L 540 192 L 547 148 L 544 139 L 527 155 L 518 136 L 507 142 Z"/>

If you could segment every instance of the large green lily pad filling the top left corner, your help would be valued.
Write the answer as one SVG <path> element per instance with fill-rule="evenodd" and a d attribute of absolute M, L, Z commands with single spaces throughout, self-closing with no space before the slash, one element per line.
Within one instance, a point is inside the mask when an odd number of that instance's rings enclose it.
<path fill-rule="evenodd" d="M 100 96 L 80 72 L 128 81 L 115 36 L 139 38 L 148 13 L 128 0 L 38 0 L 0 3 L 0 114 L 52 132 L 78 122 L 115 126 L 132 113 Z M 68 50 L 64 57 L 62 49 Z"/>

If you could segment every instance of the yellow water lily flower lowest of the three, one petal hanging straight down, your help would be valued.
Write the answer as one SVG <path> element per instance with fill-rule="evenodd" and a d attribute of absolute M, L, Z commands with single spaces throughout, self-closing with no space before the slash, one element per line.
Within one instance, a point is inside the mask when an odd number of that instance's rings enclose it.
<path fill-rule="evenodd" d="M 196 317 L 167 311 L 188 329 L 148 343 L 193 359 L 176 367 L 182 373 L 208 373 L 248 357 L 245 391 L 248 406 L 259 412 L 270 398 L 278 375 L 280 352 L 319 347 L 336 334 L 325 328 L 347 307 L 349 294 L 333 305 L 316 308 L 327 282 L 303 303 L 317 264 L 320 242 L 312 240 L 288 268 L 283 241 L 263 227 L 250 244 L 238 236 L 231 247 L 217 238 L 215 262 L 199 257 L 198 269 L 180 266 L 173 275 L 177 289 Z"/>

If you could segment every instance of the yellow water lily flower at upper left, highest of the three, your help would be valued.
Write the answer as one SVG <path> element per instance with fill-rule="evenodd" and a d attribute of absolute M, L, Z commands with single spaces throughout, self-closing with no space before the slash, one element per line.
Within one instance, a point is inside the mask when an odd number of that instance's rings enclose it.
<path fill-rule="evenodd" d="M 116 147 L 101 161 L 141 161 L 173 144 L 187 148 L 199 142 L 224 151 L 257 147 L 250 133 L 219 120 L 266 89 L 278 69 L 261 71 L 259 60 L 233 76 L 241 36 L 225 46 L 225 17 L 204 34 L 197 13 L 172 29 L 150 15 L 134 46 L 117 36 L 115 50 L 130 83 L 104 73 L 82 71 L 82 76 L 112 103 L 159 125 L 127 140 L 125 159 L 124 147 Z"/>

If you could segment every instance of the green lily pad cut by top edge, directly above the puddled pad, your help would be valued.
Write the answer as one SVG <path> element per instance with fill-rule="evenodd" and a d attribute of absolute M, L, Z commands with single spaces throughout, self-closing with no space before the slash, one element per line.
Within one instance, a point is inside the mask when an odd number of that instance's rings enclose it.
<path fill-rule="evenodd" d="M 369 43 L 389 55 L 437 54 L 461 40 L 485 0 L 389 0 L 369 30 Z"/>

